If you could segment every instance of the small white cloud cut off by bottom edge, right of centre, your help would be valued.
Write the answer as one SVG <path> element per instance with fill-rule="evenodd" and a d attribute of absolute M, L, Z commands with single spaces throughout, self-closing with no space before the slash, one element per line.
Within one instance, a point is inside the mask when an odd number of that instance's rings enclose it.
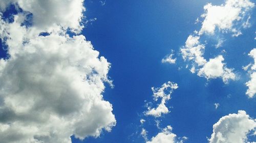
<path fill-rule="evenodd" d="M 172 133 L 172 129 L 173 128 L 171 126 L 167 126 L 162 130 L 162 132 L 152 137 L 150 141 L 146 141 L 146 143 L 182 143 L 187 139 L 185 136 L 182 137 L 182 139 L 177 139 L 177 135 Z"/>

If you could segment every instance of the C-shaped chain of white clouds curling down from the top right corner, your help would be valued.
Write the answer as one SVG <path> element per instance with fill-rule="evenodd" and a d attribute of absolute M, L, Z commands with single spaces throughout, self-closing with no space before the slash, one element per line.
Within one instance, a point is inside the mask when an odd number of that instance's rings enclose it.
<path fill-rule="evenodd" d="M 215 36 L 216 33 L 232 33 L 233 36 L 241 35 L 241 28 L 249 27 L 250 11 L 254 4 L 249 0 L 227 0 L 224 5 L 213 6 L 207 4 L 204 6 L 205 13 L 202 26 L 199 32 L 188 36 L 185 45 L 181 48 L 181 54 L 184 61 L 191 62 L 190 71 L 197 73 L 207 79 L 222 78 L 224 83 L 236 79 L 233 69 L 227 68 L 223 55 L 219 54 L 215 58 L 207 61 L 204 58 L 204 50 L 207 41 L 201 42 L 201 37 L 215 37 L 218 43 L 216 48 L 222 46 L 225 39 Z M 197 19 L 199 22 L 199 19 Z"/>

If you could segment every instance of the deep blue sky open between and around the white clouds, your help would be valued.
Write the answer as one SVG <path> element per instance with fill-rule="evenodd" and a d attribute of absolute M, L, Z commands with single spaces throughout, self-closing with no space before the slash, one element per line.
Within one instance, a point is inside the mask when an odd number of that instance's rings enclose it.
<path fill-rule="evenodd" d="M 181 48 L 189 35 L 193 35 L 195 30 L 200 31 L 204 19 L 195 22 L 205 13 L 204 6 L 208 3 L 219 6 L 225 1 L 104 2 L 104 5 L 92 0 L 83 3 L 86 18 L 83 19 L 85 27 L 80 34 L 86 37 L 86 41 L 91 41 L 94 50 L 111 63 L 108 76 L 113 80 L 114 88 L 104 82 L 102 100 L 112 104 L 116 125 L 110 132 L 102 130 L 97 137 L 89 136 L 80 140 L 72 136 L 72 142 L 146 142 L 167 125 L 172 126 L 171 132 L 177 135 L 177 140 L 185 136 L 187 139 L 183 139 L 184 142 L 208 142 L 212 126 L 229 113 L 244 110 L 251 119 L 256 118 L 256 99 L 248 98 L 245 84 L 253 70 L 242 69 L 253 64 L 253 58 L 248 53 L 255 48 L 256 42 L 255 6 L 248 12 L 251 15 L 250 26 L 238 26 L 242 35 L 232 37 L 232 32 L 200 35 L 200 42 L 207 41 L 204 43 L 203 57 L 209 61 L 222 54 L 225 66 L 236 74 L 235 80 L 224 83 L 220 77 L 207 80 L 197 73 L 191 73 L 191 67 L 186 68 L 186 65 L 195 63 L 182 59 Z M 92 20 L 94 18 L 96 20 Z M 224 42 L 220 48 L 216 48 L 219 39 L 224 39 Z M 175 64 L 162 63 L 161 60 L 172 50 L 174 58 L 177 58 Z M 6 50 L 1 49 L 0 52 L 4 58 Z M 146 103 L 152 102 L 154 107 L 160 103 L 154 102 L 151 88 L 161 87 L 167 81 L 175 82 L 179 87 L 166 103 L 169 112 L 161 117 L 146 116 Z M 71 103 L 75 104 L 75 100 Z M 215 103 L 219 104 L 218 108 Z M 143 124 L 140 123 L 141 119 L 145 120 Z M 141 135 L 142 129 L 147 131 L 148 140 Z M 256 141 L 255 135 L 247 137 L 250 142 Z"/>

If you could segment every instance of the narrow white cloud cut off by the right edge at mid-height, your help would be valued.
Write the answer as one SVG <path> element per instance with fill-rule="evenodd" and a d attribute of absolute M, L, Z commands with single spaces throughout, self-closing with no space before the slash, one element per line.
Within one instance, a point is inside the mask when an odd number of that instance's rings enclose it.
<path fill-rule="evenodd" d="M 252 98 L 256 94 L 256 48 L 252 49 L 248 55 L 254 59 L 254 64 L 249 64 L 248 66 L 246 66 L 247 69 L 249 68 L 249 66 L 251 66 L 251 70 L 249 71 L 251 72 L 251 79 L 245 84 L 248 87 L 246 94 L 248 95 L 249 98 Z"/>

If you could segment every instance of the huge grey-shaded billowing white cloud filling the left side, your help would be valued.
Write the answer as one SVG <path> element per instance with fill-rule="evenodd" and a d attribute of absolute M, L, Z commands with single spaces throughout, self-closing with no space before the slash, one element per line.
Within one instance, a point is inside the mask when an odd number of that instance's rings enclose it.
<path fill-rule="evenodd" d="M 110 63 L 84 36 L 66 34 L 82 27 L 82 1 L 15 2 L 24 12 L 0 24 L 10 55 L 0 60 L 1 142 L 70 143 L 71 135 L 110 131 L 116 120 L 102 96 Z M 33 13 L 30 27 L 21 26 L 25 11 Z M 38 36 L 45 30 L 51 34 Z"/>

